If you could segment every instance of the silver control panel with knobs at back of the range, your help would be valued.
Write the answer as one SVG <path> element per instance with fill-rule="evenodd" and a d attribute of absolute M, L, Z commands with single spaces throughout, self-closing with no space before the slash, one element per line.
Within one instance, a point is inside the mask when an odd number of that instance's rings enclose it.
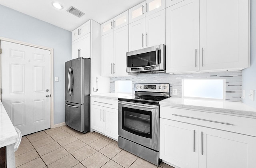
<path fill-rule="evenodd" d="M 170 90 L 169 83 L 135 83 L 134 84 L 134 91 L 168 93 L 169 90 Z"/>

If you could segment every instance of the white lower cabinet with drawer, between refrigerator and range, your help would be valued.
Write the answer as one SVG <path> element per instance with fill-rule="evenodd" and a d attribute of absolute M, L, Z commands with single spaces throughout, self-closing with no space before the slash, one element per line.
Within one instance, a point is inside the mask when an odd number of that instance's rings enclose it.
<path fill-rule="evenodd" d="M 114 103 L 111 101 L 114 101 Z M 111 101 L 109 102 L 108 99 L 91 99 L 91 129 L 117 140 L 118 106 L 117 100 Z M 114 109 L 108 106 L 113 106 Z"/>

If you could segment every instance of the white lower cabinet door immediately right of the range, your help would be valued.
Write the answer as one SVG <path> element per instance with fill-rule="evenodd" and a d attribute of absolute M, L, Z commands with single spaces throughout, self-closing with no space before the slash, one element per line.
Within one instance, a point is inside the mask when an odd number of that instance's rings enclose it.
<path fill-rule="evenodd" d="M 197 168 L 197 133 L 198 126 L 160 119 L 160 159 L 181 168 Z"/>

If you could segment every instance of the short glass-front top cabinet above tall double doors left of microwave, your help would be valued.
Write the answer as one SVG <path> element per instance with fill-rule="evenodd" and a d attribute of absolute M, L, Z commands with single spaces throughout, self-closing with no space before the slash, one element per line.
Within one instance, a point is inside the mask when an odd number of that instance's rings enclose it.
<path fill-rule="evenodd" d="M 129 11 L 123 12 L 115 18 L 108 20 L 101 25 L 101 36 L 113 32 L 114 30 L 121 28 L 129 23 Z"/>

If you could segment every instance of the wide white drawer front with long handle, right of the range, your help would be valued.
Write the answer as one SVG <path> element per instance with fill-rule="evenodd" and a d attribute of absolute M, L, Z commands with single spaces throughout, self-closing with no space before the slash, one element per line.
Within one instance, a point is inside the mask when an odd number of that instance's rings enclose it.
<path fill-rule="evenodd" d="M 160 118 L 256 136 L 256 119 L 160 106 Z"/>

